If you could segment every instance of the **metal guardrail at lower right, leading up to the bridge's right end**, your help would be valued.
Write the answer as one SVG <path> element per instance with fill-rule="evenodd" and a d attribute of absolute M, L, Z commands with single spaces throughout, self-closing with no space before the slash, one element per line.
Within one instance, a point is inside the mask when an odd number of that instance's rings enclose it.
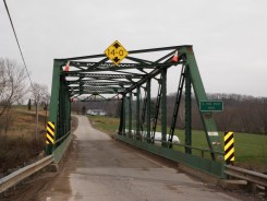
<path fill-rule="evenodd" d="M 264 187 L 265 197 L 267 197 L 267 175 L 248 169 L 243 169 L 240 167 L 234 167 L 231 165 L 226 165 L 224 167 L 226 175 L 246 180 L 248 186 L 251 186 L 252 184 L 256 184 Z"/>

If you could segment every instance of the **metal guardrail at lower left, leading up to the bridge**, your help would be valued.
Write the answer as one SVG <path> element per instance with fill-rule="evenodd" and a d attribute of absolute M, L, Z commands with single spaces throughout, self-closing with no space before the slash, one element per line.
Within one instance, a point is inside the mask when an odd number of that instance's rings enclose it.
<path fill-rule="evenodd" d="M 53 162 L 52 155 L 49 155 L 38 162 L 35 162 L 31 165 L 27 165 L 7 177 L 0 179 L 0 193 L 8 190 L 10 187 L 15 186 L 16 184 L 21 182 L 23 179 L 29 177 L 31 175 L 35 174 L 36 172 L 40 170 L 41 168 L 46 167 L 47 165 Z"/>

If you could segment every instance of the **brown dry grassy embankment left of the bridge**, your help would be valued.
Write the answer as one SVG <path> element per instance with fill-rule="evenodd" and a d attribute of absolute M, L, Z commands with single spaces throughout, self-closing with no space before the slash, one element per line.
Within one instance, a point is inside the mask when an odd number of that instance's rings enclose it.
<path fill-rule="evenodd" d="M 34 108 L 14 106 L 11 114 L 8 132 L 0 133 L 0 174 L 26 165 L 45 149 L 45 111 L 39 111 L 37 139 Z"/>

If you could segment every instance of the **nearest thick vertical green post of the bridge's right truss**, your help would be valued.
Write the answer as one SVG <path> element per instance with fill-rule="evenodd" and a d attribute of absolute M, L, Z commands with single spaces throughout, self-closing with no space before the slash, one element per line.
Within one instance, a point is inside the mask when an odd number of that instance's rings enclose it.
<path fill-rule="evenodd" d="M 185 153 L 192 154 L 192 104 L 190 67 L 185 67 Z"/>

